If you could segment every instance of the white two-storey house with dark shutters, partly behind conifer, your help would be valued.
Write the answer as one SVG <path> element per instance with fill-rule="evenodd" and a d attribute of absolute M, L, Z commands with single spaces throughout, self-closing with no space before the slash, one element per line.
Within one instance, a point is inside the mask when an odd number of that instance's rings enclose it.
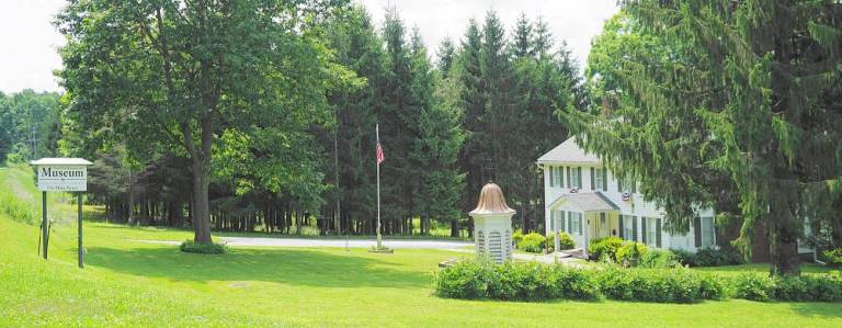
<path fill-rule="evenodd" d="M 689 251 L 716 245 L 712 208 L 699 211 L 687 234 L 668 233 L 662 228 L 663 208 L 644 201 L 636 183 L 618 181 L 574 138 L 544 154 L 537 163 L 544 171 L 546 233 L 567 231 L 577 248 L 606 236 Z"/>

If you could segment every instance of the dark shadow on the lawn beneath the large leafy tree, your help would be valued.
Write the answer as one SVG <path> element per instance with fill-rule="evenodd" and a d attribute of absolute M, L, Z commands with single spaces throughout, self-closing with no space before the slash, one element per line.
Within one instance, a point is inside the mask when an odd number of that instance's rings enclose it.
<path fill-rule="evenodd" d="M 263 281 L 321 287 L 424 287 L 431 275 L 399 263 L 299 249 L 232 249 L 226 255 L 184 253 L 175 248 L 90 248 L 89 265 L 172 281 Z M 391 268 L 389 268 L 391 267 Z"/>

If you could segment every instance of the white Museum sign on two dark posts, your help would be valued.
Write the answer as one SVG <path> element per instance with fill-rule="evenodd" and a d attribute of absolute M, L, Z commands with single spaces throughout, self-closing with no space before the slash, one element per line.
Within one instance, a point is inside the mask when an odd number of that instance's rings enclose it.
<path fill-rule="evenodd" d="M 43 256 L 47 259 L 49 246 L 49 225 L 47 224 L 47 192 L 77 192 L 79 208 L 79 268 L 84 268 L 82 259 L 82 193 L 88 191 L 88 166 L 92 162 L 81 158 L 42 158 L 31 162 L 38 174 L 38 190 L 42 200 L 42 238 Z M 41 249 L 41 248 L 39 248 Z"/>

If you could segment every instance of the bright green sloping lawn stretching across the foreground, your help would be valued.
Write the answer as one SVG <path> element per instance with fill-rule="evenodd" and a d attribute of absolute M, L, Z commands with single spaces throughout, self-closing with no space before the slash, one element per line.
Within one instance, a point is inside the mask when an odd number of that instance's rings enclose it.
<path fill-rule="evenodd" d="M 14 169 L 0 169 L 0 193 L 8 170 Z M 36 257 L 37 228 L 0 213 L 0 326 L 842 326 L 839 304 L 441 299 L 430 295 L 432 272 L 456 253 L 187 255 L 130 239 L 180 240 L 189 233 L 100 223 L 86 224 L 82 271 L 75 268 L 76 226 L 64 222 L 44 262 Z"/>

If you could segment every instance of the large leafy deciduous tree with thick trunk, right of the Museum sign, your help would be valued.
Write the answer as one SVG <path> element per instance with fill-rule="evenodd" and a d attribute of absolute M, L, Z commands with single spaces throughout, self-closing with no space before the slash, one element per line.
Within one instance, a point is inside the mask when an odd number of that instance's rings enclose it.
<path fill-rule="evenodd" d="M 333 2 L 72 1 L 56 19 L 68 39 L 59 72 L 68 115 L 130 154 L 166 148 L 187 158 L 194 239 L 210 242 L 217 138 L 234 131 L 283 143 L 272 133 L 329 113 L 326 90 L 343 77 L 317 26 Z"/>

